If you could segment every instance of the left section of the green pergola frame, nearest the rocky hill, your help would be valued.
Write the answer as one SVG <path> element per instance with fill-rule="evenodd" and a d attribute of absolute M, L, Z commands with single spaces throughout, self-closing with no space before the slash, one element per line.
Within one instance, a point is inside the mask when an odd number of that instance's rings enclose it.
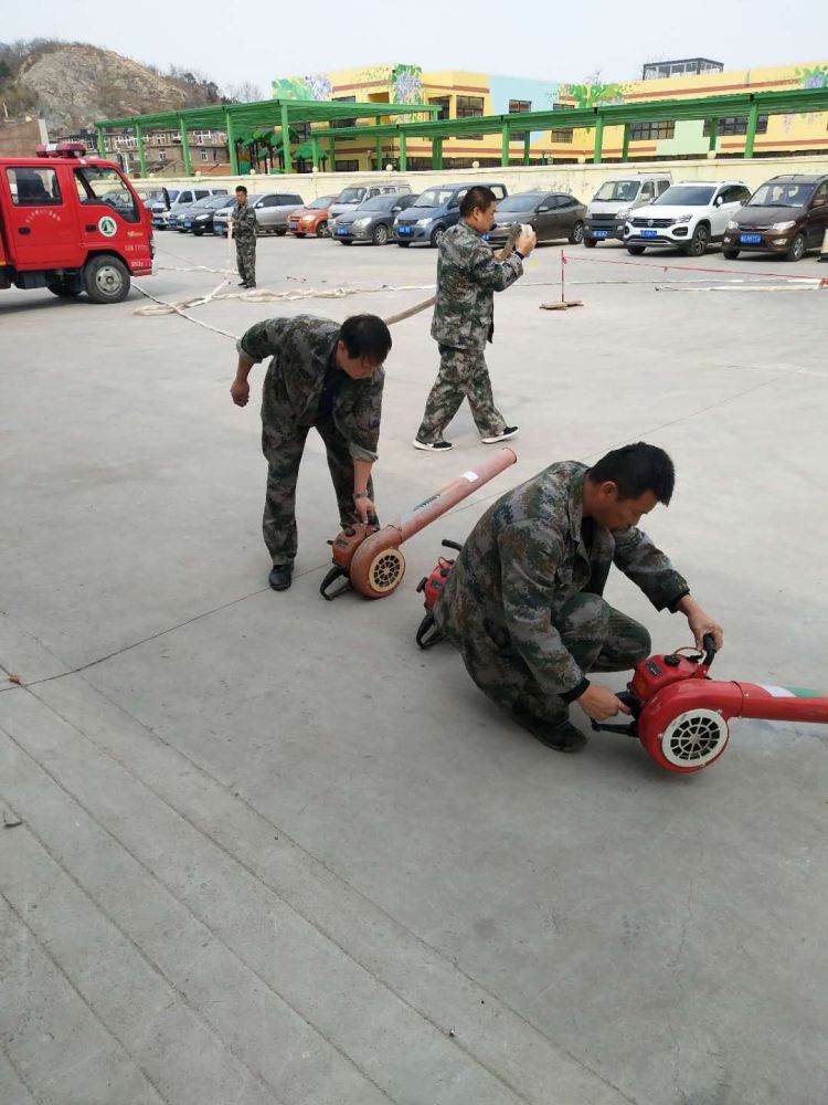
<path fill-rule="evenodd" d="M 429 104 L 358 104 L 330 99 L 259 99 L 252 104 L 227 104 L 213 107 L 191 107 L 182 112 L 159 112 L 157 115 L 130 115 L 121 119 L 102 119 L 95 124 L 98 136 L 98 152 L 106 155 L 104 136 L 107 130 L 135 130 L 138 139 L 138 158 L 141 176 L 147 175 L 147 151 L 144 136 L 149 130 L 178 130 L 181 135 L 181 154 L 184 161 L 184 172 L 190 176 L 190 144 L 188 133 L 194 129 L 222 129 L 227 133 L 230 148 L 230 168 L 233 176 L 238 175 L 238 157 L 236 155 L 236 133 L 250 131 L 255 127 L 278 127 L 282 131 L 282 155 L 285 171 L 290 170 L 290 127 L 299 123 L 327 124 L 323 131 L 329 143 L 330 157 L 336 156 L 336 139 L 340 131 L 331 127 L 336 119 L 371 118 L 379 126 L 369 128 L 372 138 L 376 139 L 378 152 L 382 141 L 380 120 L 389 115 L 427 115 L 434 118 L 439 107 Z M 351 129 L 346 128 L 346 129 Z M 363 128 L 364 129 L 364 128 Z M 314 166 L 319 167 L 319 139 L 321 135 L 311 130 L 309 141 Z"/>

